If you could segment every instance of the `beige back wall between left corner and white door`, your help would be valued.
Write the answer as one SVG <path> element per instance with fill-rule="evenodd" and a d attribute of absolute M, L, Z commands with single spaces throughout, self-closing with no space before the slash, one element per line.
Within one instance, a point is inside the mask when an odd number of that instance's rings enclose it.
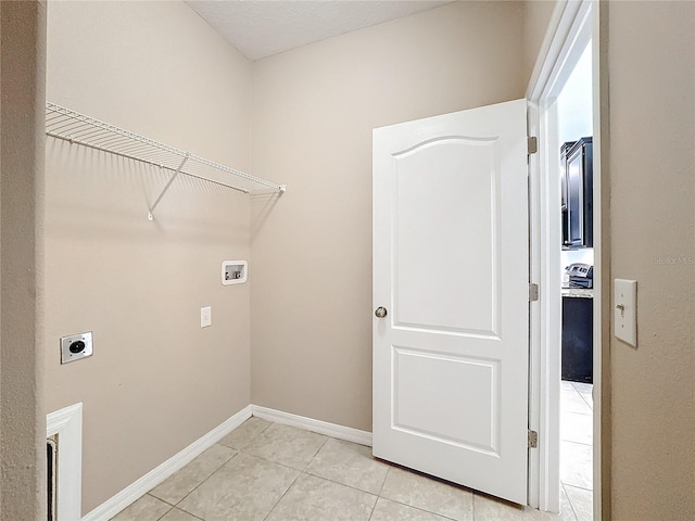
<path fill-rule="evenodd" d="M 523 5 L 457 2 L 254 64 L 254 404 L 371 430 L 371 130 L 518 99 Z"/>

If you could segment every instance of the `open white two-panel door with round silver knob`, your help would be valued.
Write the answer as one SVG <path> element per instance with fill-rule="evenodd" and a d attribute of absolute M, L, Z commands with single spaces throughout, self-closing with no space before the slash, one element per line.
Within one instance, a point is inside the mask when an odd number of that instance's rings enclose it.
<path fill-rule="evenodd" d="M 526 154 L 525 100 L 374 131 L 374 455 L 519 504 Z"/>

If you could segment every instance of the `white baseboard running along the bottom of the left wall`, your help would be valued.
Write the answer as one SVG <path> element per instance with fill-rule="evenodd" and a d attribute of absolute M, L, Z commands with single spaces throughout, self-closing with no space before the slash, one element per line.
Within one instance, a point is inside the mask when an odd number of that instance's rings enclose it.
<path fill-rule="evenodd" d="M 197 456 L 200 456 L 201 453 L 212 447 L 215 443 L 222 440 L 224 436 L 233 431 L 237 427 L 241 425 L 244 421 L 251 418 L 252 415 L 252 406 L 248 405 L 235 416 L 225 420 L 222 424 L 210 431 L 207 434 L 204 434 L 193 443 L 191 443 L 188 447 L 184 448 L 181 452 L 175 454 L 169 459 L 164 461 L 159 467 L 152 469 L 150 472 L 144 474 L 138 481 L 131 483 L 126 486 L 123 491 L 117 493 L 111 499 L 108 499 L 105 503 L 102 503 L 100 506 L 90 511 L 87 516 L 85 516 L 81 521 L 108 521 L 113 518 L 121 510 L 126 508 L 128 505 L 135 503 L 139 499 L 143 494 L 148 493 L 156 485 L 166 480 L 169 475 L 172 475 L 177 470 L 185 467 L 191 460 L 193 460 Z M 61 521 L 77 521 L 77 520 L 61 520 Z"/>

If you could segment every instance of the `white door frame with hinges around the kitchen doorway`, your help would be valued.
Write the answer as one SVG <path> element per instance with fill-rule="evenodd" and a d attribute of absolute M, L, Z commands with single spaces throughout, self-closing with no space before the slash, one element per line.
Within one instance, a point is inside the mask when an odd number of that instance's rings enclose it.
<path fill-rule="evenodd" d="M 529 136 L 539 138 L 539 153 L 529 161 L 530 277 L 540 298 L 531 307 L 529 428 L 539 432 L 539 448 L 529 457 L 529 505 L 559 511 L 560 395 L 560 187 L 559 142 L 555 101 L 586 43 L 592 41 L 594 117 L 594 201 L 601 199 L 599 2 L 559 0 L 548 24 L 527 89 Z M 592 38 L 592 35 L 594 36 Z M 594 280 L 601 281 L 601 204 L 594 204 Z M 601 284 L 594 290 L 594 521 L 601 520 Z"/>

